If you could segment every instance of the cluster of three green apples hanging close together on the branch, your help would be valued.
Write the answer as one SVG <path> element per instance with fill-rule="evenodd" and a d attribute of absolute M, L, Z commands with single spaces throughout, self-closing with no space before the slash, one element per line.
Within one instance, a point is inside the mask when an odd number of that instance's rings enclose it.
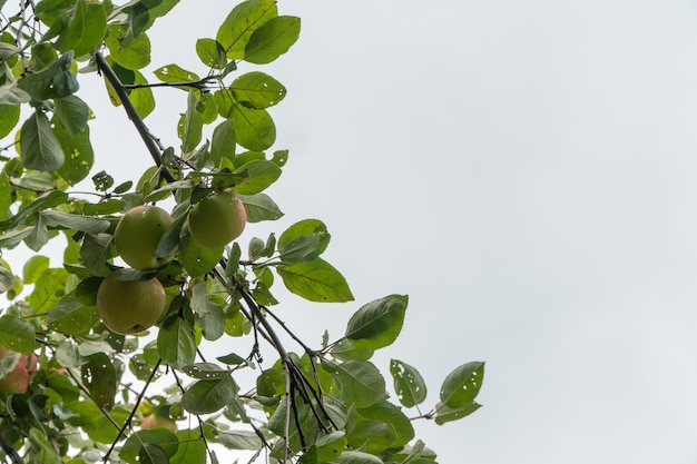
<path fill-rule="evenodd" d="M 247 215 L 242 201 L 232 192 L 217 191 L 199 200 L 189 211 L 179 244 L 179 258 L 196 255 L 196 247 L 219 248 L 237 238 L 244 230 Z M 169 263 L 175 251 L 159 258 L 155 255 L 160 238 L 174 223 L 173 217 L 157 206 L 137 206 L 128 210 L 114 231 L 116 250 L 124 261 L 138 270 L 154 270 Z M 210 267 L 216 263 L 212 263 Z M 185 266 L 186 268 L 186 266 Z M 210 269 L 208 269 L 210 270 Z M 125 269 L 109 274 L 97 293 L 97 310 L 105 325 L 117 334 L 143 332 L 165 315 L 166 296 L 157 278 L 121 280 Z"/>

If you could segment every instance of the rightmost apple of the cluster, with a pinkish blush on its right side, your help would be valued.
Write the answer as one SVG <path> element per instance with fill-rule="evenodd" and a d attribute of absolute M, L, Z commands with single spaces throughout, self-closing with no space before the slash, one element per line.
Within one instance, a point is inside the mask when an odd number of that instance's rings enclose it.
<path fill-rule="evenodd" d="M 187 220 L 196 241 L 208 248 L 218 248 L 242 235 L 247 211 L 233 194 L 218 191 L 194 205 Z"/>

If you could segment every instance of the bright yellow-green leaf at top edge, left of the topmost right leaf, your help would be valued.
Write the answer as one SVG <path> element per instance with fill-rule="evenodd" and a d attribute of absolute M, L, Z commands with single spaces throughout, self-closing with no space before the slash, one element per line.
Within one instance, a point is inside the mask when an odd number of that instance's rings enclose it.
<path fill-rule="evenodd" d="M 274 0 L 248 0 L 236 6 L 218 29 L 216 40 L 223 46 L 227 58 L 244 58 L 245 47 L 252 33 L 271 18 L 277 17 Z"/>

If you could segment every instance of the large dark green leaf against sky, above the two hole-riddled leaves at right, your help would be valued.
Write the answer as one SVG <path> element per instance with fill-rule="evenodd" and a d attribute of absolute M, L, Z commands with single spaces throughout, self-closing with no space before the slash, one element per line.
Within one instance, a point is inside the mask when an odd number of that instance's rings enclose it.
<path fill-rule="evenodd" d="M 408 302 L 405 295 L 390 295 L 362 306 L 348 320 L 346 338 L 356 348 L 391 345 L 402 330 Z"/>

